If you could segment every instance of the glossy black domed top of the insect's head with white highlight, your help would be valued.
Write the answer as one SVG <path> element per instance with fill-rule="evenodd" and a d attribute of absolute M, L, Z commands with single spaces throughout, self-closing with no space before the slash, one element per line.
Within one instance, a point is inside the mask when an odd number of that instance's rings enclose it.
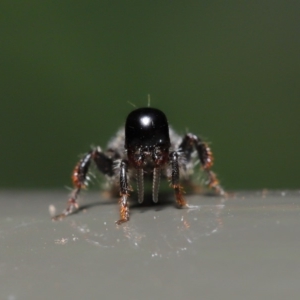
<path fill-rule="evenodd" d="M 168 150 L 169 125 L 165 114 L 156 108 L 145 107 L 132 111 L 125 124 L 125 148 L 135 151 Z"/>

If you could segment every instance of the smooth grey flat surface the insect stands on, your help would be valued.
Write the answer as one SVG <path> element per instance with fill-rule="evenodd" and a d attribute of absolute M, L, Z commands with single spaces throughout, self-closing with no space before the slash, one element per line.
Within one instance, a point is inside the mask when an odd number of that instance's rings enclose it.
<path fill-rule="evenodd" d="M 298 299 L 300 192 L 187 197 L 192 209 L 85 193 L 61 222 L 65 192 L 0 192 L 0 299 Z M 84 200 L 84 201 L 83 201 Z"/>

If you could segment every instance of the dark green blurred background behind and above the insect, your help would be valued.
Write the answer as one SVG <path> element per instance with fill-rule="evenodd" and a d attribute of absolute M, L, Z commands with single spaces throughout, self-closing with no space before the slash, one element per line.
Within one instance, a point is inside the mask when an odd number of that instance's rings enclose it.
<path fill-rule="evenodd" d="M 299 1 L 1 1 L 0 187 L 63 188 L 132 110 L 211 142 L 226 189 L 299 188 Z"/>

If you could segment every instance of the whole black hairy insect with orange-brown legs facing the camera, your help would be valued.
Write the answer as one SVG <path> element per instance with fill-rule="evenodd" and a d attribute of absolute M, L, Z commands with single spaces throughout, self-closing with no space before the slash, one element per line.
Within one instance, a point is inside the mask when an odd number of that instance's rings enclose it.
<path fill-rule="evenodd" d="M 161 176 L 170 180 L 179 208 L 188 207 L 184 199 L 182 179 L 188 179 L 194 169 L 195 161 L 207 174 L 208 187 L 217 194 L 225 192 L 214 172 L 213 154 L 208 145 L 192 133 L 180 137 L 168 124 L 166 115 L 159 109 L 144 107 L 133 110 L 127 116 L 125 127 L 109 142 L 103 152 L 96 147 L 86 153 L 77 163 L 72 173 L 74 190 L 61 219 L 78 209 L 77 198 L 81 189 L 88 185 L 88 172 L 93 162 L 97 169 L 106 175 L 120 191 L 120 219 L 122 224 L 129 220 L 129 193 L 132 190 L 130 178 L 135 176 L 138 201 L 144 200 L 144 177 L 152 177 L 152 200 L 158 201 Z"/>

